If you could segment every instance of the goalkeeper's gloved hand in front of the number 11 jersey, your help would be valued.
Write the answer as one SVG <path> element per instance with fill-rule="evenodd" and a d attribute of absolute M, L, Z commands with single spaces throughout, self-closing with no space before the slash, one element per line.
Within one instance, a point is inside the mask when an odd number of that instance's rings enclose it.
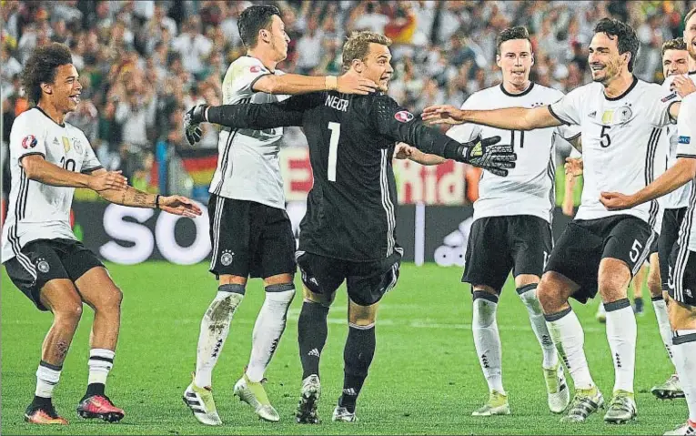
<path fill-rule="evenodd" d="M 496 176 L 505 177 L 508 169 L 515 167 L 517 154 L 512 146 L 498 145 L 500 137 L 477 137 L 471 142 L 463 144 L 459 148 L 459 157 L 456 160 L 466 162 L 474 167 L 483 168 Z"/>

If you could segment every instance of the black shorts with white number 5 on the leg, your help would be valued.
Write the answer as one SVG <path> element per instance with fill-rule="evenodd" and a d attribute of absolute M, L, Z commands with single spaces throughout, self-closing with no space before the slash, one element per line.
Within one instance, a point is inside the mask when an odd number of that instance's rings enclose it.
<path fill-rule="evenodd" d="M 546 270 L 580 285 L 572 297 L 585 303 L 597 295 L 601 259 L 623 260 L 634 275 L 648 259 L 655 238 L 648 223 L 630 215 L 576 219 L 556 241 Z"/>

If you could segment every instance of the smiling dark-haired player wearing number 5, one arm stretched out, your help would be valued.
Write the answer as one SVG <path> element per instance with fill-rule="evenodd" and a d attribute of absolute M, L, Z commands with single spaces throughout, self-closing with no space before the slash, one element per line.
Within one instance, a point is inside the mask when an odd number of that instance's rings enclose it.
<path fill-rule="evenodd" d="M 473 122 L 510 130 L 561 124 L 580 125 L 584 187 L 580 209 L 560 236 L 537 293 L 551 337 L 576 388 L 563 421 L 585 421 L 604 403 L 590 375 L 584 333 L 569 299 L 593 298 L 598 290 L 607 311 L 607 339 L 614 362 L 613 398 L 604 421 L 622 423 L 636 416 L 633 394 L 636 319 L 627 289 L 648 257 L 660 229 L 657 201 L 621 212 L 600 203 L 603 190 L 649 185 L 664 171 L 662 127 L 679 114 L 674 96 L 633 76 L 638 37 L 630 27 L 604 18 L 594 28 L 589 64 L 594 83 L 580 86 L 550 106 L 498 110 L 459 110 L 432 106 L 424 119 L 438 123 Z"/>

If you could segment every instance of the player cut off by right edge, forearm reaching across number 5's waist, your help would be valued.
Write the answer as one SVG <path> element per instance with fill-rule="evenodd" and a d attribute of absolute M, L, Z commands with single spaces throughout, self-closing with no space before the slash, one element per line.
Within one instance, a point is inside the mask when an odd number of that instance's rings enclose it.
<path fill-rule="evenodd" d="M 690 65 L 696 61 L 696 8 L 684 20 L 684 41 Z M 696 73 L 675 77 L 673 87 L 684 99 L 677 124 L 676 161 L 661 177 L 632 195 L 602 192 L 601 202 L 610 210 L 635 208 L 690 184 L 689 205 L 681 221 L 669 259 L 667 309 L 672 340 L 672 363 L 689 408 L 686 423 L 666 435 L 696 434 Z"/>

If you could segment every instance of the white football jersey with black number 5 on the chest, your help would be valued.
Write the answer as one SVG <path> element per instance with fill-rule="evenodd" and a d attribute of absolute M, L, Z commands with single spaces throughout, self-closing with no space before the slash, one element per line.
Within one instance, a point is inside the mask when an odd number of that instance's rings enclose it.
<path fill-rule="evenodd" d="M 549 106 L 560 122 L 578 125 L 581 130 L 584 186 L 576 219 L 632 215 L 660 232 L 662 208 L 657 200 L 610 211 L 600 203 L 600 193 L 632 194 L 660 177 L 667 156 L 662 127 L 671 124 L 674 101 L 660 85 L 634 77 L 621 96 L 607 97 L 603 85 L 590 83 Z"/>

